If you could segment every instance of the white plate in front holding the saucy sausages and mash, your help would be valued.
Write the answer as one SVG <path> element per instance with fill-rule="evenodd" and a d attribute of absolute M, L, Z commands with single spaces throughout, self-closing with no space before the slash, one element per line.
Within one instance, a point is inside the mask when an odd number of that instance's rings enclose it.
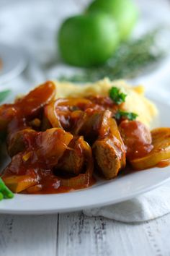
<path fill-rule="evenodd" d="M 156 102 L 161 127 L 170 127 L 169 105 Z M 56 195 L 15 195 L 0 202 L 0 213 L 57 213 L 122 202 L 154 189 L 170 179 L 170 167 L 151 168 L 112 181 L 98 182 L 89 189 Z"/>

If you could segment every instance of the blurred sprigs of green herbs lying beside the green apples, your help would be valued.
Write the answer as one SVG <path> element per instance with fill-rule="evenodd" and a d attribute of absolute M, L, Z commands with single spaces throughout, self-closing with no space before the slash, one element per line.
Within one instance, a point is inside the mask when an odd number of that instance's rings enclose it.
<path fill-rule="evenodd" d="M 79 72 L 68 76 L 61 75 L 59 80 L 95 82 L 104 77 L 109 77 L 110 80 L 136 77 L 164 56 L 163 50 L 156 48 L 157 36 L 158 30 L 154 30 L 139 39 L 122 43 L 115 54 L 102 67 L 81 69 Z"/>

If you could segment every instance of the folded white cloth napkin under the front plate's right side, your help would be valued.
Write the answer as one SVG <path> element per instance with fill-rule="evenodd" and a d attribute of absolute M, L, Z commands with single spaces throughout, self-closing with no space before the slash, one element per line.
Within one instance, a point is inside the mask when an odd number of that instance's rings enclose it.
<path fill-rule="evenodd" d="M 153 220 L 170 213 L 170 182 L 132 200 L 84 210 L 84 213 L 87 216 L 103 216 L 123 222 Z"/>

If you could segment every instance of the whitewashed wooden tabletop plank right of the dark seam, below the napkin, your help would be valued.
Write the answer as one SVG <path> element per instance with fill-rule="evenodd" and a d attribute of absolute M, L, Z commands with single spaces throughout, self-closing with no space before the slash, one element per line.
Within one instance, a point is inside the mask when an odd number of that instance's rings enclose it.
<path fill-rule="evenodd" d="M 83 213 L 59 216 L 58 256 L 169 256 L 170 215 L 146 223 L 119 223 Z"/>

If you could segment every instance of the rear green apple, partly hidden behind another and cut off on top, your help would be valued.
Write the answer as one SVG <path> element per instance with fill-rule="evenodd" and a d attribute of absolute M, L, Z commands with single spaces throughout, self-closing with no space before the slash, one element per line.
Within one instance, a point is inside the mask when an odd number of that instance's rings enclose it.
<path fill-rule="evenodd" d="M 95 0 L 87 12 L 106 12 L 117 22 L 120 40 L 126 40 L 133 30 L 138 17 L 138 8 L 133 0 Z"/>

